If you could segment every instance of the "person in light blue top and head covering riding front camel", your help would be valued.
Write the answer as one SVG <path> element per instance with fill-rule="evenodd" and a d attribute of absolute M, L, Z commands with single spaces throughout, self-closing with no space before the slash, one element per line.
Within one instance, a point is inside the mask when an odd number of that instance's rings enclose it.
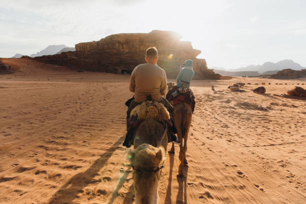
<path fill-rule="evenodd" d="M 191 59 L 187 59 L 183 65 L 184 67 L 180 70 L 176 77 L 176 86 L 181 87 L 182 85 L 185 85 L 189 87 L 190 81 L 194 76 L 194 71 L 192 69 L 193 61 Z"/>

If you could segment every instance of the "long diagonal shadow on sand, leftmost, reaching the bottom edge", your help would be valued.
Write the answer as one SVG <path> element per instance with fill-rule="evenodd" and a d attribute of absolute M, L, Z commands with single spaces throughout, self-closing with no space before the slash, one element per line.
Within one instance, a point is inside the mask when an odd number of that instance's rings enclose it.
<path fill-rule="evenodd" d="M 74 203 L 73 200 L 76 198 L 77 194 L 82 192 L 82 189 L 92 181 L 92 178 L 97 175 L 98 171 L 107 162 L 109 157 L 123 142 L 123 139 L 124 136 L 115 141 L 86 171 L 73 175 L 60 187 L 59 190 L 57 190 L 57 192 L 52 195 L 48 203 Z"/>

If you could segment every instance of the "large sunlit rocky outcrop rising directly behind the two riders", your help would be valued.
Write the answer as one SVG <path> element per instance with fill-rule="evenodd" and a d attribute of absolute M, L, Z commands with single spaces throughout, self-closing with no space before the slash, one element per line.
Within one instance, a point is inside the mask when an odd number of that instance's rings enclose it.
<path fill-rule="evenodd" d="M 75 70 L 100 72 L 127 72 L 145 63 L 146 48 L 158 49 L 158 65 L 168 77 L 176 77 L 179 66 L 186 60 L 193 60 L 195 79 L 220 79 L 219 74 L 208 69 L 205 59 L 197 59 L 201 52 L 193 49 L 191 42 L 180 41 L 181 36 L 173 31 L 153 30 L 149 33 L 112 34 L 99 41 L 75 44 L 76 51 L 35 57 L 46 63 L 65 65 Z"/>

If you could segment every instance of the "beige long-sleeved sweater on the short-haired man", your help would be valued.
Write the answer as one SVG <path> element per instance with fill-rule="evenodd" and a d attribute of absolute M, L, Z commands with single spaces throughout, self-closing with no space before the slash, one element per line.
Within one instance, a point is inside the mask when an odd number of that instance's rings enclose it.
<path fill-rule="evenodd" d="M 162 68 L 146 63 L 134 68 L 129 80 L 129 90 L 135 93 L 135 101 L 141 102 L 148 94 L 159 101 L 167 91 L 167 77 Z"/>

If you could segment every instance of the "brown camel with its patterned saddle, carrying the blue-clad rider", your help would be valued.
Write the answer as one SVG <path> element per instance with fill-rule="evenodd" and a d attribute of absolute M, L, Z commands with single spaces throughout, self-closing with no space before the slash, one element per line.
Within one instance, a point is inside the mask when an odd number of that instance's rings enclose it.
<path fill-rule="evenodd" d="M 166 99 L 173 106 L 173 121 L 177 129 L 177 137 L 179 144 L 180 160 L 178 167 L 178 176 L 183 176 L 183 165 L 187 165 L 186 151 L 187 151 L 187 138 L 189 127 L 192 119 L 192 112 L 194 110 L 195 101 L 192 90 L 186 86 L 177 87 L 175 83 L 168 82 L 168 92 Z M 169 153 L 174 153 L 174 143 L 172 143 Z"/>

